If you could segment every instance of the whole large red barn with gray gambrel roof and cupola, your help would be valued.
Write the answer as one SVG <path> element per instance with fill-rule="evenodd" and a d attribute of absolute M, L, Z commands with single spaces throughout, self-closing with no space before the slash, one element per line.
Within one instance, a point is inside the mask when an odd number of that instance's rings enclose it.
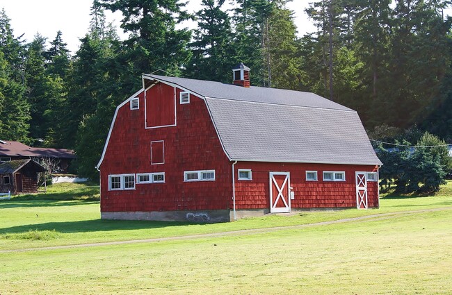
<path fill-rule="evenodd" d="M 103 219 L 231 221 L 378 208 L 381 165 L 357 112 L 309 92 L 143 75 L 102 158 Z"/>

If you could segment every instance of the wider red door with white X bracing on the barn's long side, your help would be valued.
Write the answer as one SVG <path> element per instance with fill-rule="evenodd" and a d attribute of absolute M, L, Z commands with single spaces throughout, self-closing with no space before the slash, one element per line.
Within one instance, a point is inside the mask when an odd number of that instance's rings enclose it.
<path fill-rule="evenodd" d="M 291 212 L 289 172 L 270 172 L 270 212 Z"/>

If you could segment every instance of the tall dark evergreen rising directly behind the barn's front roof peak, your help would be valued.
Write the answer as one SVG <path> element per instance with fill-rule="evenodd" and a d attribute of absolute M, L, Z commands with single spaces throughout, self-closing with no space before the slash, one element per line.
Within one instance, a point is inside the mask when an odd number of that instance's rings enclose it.
<path fill-rule="evenodd" d="M 99 0 L 104 8 L 120 10 L 121 28 L 130 33 L 124 41 L 127 46 L 124 60 L 131 62 L 135 77 L 157 69 L 179 76 L 190 52 L 186 49 L 191 32 L 175 25 L 188 19 L 179 0 Z"/>

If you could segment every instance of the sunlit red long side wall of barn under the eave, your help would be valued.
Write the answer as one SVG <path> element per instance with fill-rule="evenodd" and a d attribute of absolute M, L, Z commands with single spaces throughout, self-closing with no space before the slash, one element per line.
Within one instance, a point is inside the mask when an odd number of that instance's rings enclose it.
<path fill-rule="evenodd" d="M 376 172 L 375 166 L 239 162 L 236 173 L 236 209 L 270 208 L 269 172 L 290 172 L 295 192 L 291 208 L 356 208 L 356 171 Z M 252 180 L 239 180 L 238 169 L 251 169 Z M 318 171 L 317 181 L 307 181 L 306 171 Z M 346 181 L 323 181 L 323 171 L 345 171 Z M 378 183 L 368 182 L 369 208 L 378 206 Z"/>

